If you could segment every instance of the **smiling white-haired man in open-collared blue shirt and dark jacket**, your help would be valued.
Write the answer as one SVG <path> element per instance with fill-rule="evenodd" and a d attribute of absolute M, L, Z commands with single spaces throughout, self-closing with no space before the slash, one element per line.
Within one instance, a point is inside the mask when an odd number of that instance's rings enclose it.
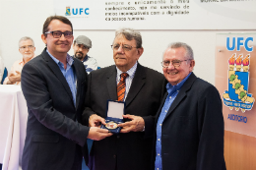
<path fill-rule="evenodd" d="M 152 169 L 225 169 L 222 100 L 214 85 L 192 73 L 194 66 L 185 43 L 172 43 L 163 54 L 167 92 L 157 113 Z"/>

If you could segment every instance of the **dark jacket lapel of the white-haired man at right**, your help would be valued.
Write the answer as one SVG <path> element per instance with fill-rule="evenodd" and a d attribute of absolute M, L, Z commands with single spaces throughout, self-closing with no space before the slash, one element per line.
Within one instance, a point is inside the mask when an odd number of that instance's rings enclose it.
<path fill-rule="evenodd" d="M 191 88 L 191 86 L 193 85 L 193 83 L 196 79 L 197 79 L 197 77 L 192 72 L 190 77 L 187 79 L 187 81 L 184 83 L 184 85 L 182 85 L 182 87 L 180 88 L 178 95 L 176 96 L 176 98 L 172 102 L 171 106 L 169 107 L 169 110 L 168 110 L 164 120 L 172 113 L 172 111 L 179 105 L 179 103 L 182 101 L 182 99 L 187 95 L 187 91 Z M 167 94 L 165 94 L 165 95 L 167 95 Z M 163 120 L 163 122 L 164 122 L 164 120 Z"/>

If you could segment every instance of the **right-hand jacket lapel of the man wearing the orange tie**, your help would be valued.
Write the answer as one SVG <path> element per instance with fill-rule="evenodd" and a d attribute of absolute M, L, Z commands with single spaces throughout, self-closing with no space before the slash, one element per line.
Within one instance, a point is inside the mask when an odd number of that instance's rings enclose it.
<path fill-rule="evenodd" d="M 126 97 L 126 107 L 131 103 L 131 101 L 136 97 L 141 88 L 145 85 L 146 73 L 145 69 L 138 63 L 135 76 L 132 81 L 132 85 L 129 89 L 128 95 Z"/>

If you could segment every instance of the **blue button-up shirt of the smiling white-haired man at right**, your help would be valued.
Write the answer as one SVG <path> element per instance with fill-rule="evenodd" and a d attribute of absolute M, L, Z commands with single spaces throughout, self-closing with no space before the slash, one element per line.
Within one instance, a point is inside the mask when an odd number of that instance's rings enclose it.
<path fill-rule="evenodd" d="M 161 125 L 162 125 L 162 122 L 168 112 L 169 107 L 171 106 L 172 102 L 174 101 L 175 97 L 177 96 L 179 89 L 186 82 L 186 80 L 189 78 L 190 75 L 191 75 L 191 73 L 188 74 L 188 76 L 177 85 L 170 85 L 169 83 L 166 85 L 168 96 L 166 97 L 163 107 L 161 108 L 160 117 L 159 117 L 158 124 L 157 124 L 155 170 L 162 169 L 161 168 L 162 167 L 161 166 Z"/>

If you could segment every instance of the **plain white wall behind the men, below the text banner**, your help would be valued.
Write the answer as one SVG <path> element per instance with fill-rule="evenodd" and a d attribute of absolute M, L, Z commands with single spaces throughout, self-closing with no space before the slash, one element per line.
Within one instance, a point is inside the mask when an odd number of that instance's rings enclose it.
<path fill-rule="evenodd" d="M 0 0 L 0 56 L 8 70 L 22 57 L 18 46 L 21 37 L 31 36 L 35 54 L 41 53 L 45 46 L 40 39 L 42 25 L 50 15 L 54 15 L 52 0 Z M 141 30 L 144 54 L 139 62 L 161 72 L 161 56 L 166 46 L 173 41 L 186 42 L 194 50 L 195 74 L 214 85 L 216 33 L 252 31 L 256 30 Z M 75 37 L 80 34 L 92 39 L 89 55 L 96 58 L 100 67 L 114 64 L 110 48 L 114 30 L 74 31 Z M 69 54 L 73 55 L 72 48 Z"/>

